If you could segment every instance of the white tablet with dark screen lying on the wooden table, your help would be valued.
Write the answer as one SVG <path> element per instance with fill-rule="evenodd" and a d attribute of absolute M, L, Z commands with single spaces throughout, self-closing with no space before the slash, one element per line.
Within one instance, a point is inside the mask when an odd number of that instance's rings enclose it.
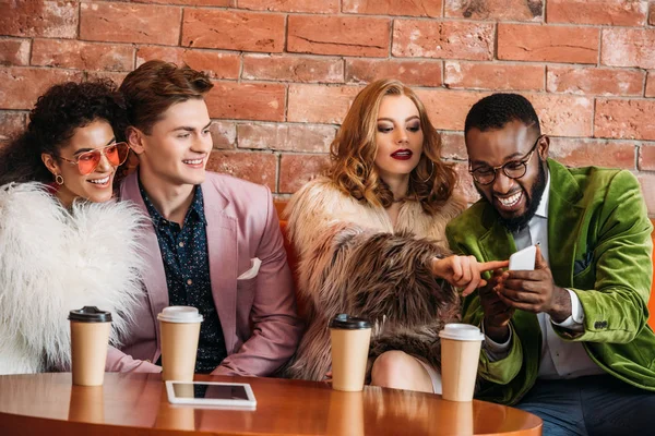
<path fill-rule="evenodd" d="M 255 409 L 252 388 L 246 383 L 166 382 L 168 401 L 174 404 Z"/>

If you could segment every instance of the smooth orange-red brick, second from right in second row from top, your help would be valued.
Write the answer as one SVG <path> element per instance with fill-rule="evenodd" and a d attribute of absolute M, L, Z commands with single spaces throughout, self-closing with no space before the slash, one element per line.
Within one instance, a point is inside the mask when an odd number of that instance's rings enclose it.
<path fill-rule="evenodd" d="M 596 63 L 598 29 L 593 27 L 498 25 L 498 59 Z"/>

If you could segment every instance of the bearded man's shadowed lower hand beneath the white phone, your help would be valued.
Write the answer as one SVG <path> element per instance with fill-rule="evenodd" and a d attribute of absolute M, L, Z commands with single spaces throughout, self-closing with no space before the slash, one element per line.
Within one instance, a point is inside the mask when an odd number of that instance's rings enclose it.
<path fill-rule="evenodd" d="M 478 289 L 480 304 L 485 313 L 485 335 L 491 338 L 495 342 L 502 343 L 508 340 L 510 335 L 510 319 L 514 315 L 514 308 L 505 304 L 495 291 L 501 282 L 503 275 L 502 268 L 493 270 L 487 286 Z"/>

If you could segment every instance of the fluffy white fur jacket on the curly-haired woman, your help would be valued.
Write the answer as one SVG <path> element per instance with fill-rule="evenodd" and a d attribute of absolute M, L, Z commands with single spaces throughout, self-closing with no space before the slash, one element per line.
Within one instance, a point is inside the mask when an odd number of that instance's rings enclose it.
<path fill-rule="evenodd" d="M 70 368 L 71 310 L 111 312 L 118 344 L 142 292 L 128 203 L 75 202 L 68 210 L 38 183 L 0 187 L 0 374 Z"/>

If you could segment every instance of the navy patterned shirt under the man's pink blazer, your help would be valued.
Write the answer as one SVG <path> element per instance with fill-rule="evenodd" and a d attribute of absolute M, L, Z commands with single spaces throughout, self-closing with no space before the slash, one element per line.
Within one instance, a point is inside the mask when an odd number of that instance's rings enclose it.
<path fill-rule="evenodd" d="M 157 211 L 141 183 L 139 187 L 159 242 L 169 304 L 198 307 L 204 317 L 200 327 L 195 372 L 211 373 L 227 356 L 227 351 L 212 296 L 202 190 L 200 185 L 195 186 L 193 202 L 180 228 Z"/>

